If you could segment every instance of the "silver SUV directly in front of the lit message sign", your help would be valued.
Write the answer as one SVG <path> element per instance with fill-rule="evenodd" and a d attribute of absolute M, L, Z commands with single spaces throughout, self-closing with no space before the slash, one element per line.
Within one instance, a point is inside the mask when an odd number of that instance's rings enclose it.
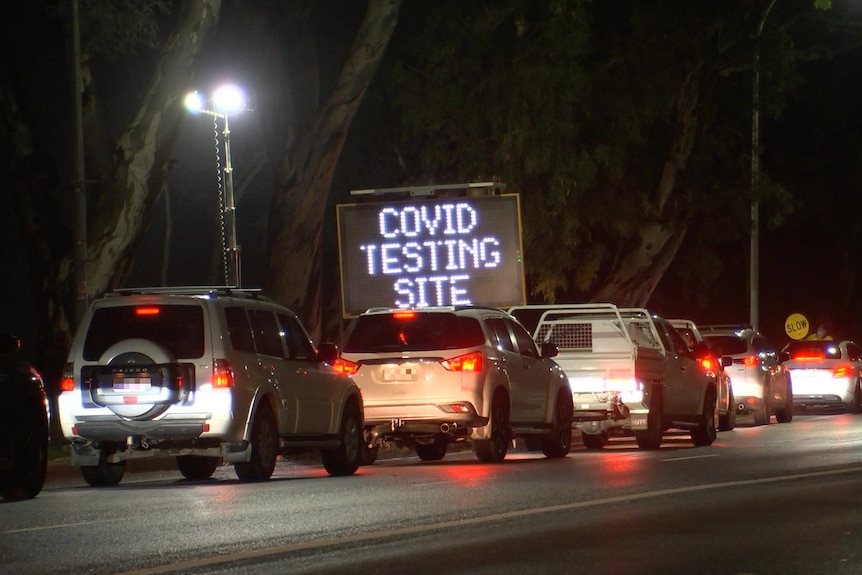
<path fill-rule="evenodd" d="M 556 353 L 499 309 L 374 309 L 354 320 L 338 365 L 362 389 L 371 460 L 382 441 L 423 461 L 469 441 L 480 461 L 499 462 L 516 436 L 568 454 L 572 392 Z"/>

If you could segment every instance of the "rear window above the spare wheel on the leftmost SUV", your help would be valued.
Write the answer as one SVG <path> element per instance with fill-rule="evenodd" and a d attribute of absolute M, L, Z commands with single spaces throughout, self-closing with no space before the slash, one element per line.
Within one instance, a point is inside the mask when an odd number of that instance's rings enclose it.
<path fill-rule="evenodd" d="M 93 313 L 84 341 L 84 359 L 97 361 L 124 339 L 147 339 L 175 358 L 204 353 L 204 314 L 197 305 L 130 305 L 103 307 Z"/>

